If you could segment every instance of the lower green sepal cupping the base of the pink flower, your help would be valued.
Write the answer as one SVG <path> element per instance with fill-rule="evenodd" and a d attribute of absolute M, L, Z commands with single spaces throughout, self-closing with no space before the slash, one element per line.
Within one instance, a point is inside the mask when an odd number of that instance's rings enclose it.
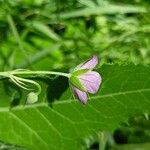
<path fill-rule="evenodd" d="M 77 76 L 74 76 L 74 75 L 72 74 L 72 75 L 70 76 L 69 80 L 70 80 L 70 83 L 71 83 L 73 86 L 75 86 L 76 88 L 78 88 L 78 89 L 81 90 L 81 91 L 85 91 L 85 92 L 86 92 L 84 86 L 81 84 L 81 82 L 80 82 L 80 80 L 78 79 Z"/>

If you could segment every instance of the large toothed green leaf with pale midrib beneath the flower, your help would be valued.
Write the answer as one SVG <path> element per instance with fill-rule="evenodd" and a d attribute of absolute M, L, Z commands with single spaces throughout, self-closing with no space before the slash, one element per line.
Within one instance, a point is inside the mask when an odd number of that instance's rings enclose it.
<path fill-rule="evenodd" d="M 52 107 L 46 102 L 1 107 L 0 140 L 32 150 L 76 150 L 91 134 L 113 131 L 130 116 L 150 113 L 150 67 L 112 65 L 98 71 L 103 82 L 87 105 L 68 99 L 69 93 Z M 0 85 L 0 100 L 7 101 Z"/>

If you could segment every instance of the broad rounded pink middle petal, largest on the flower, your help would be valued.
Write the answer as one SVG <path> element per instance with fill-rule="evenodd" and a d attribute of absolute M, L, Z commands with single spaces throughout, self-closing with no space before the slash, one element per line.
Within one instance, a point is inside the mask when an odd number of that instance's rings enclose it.
<path fill-rule="evenodd" d="M 87 72 L 85 74 L 80 75 L 79 80 L 85 87 L 87 92 L 92 94 L 98 91 L 102 81 L 100 74 L 95 71 Z"/>

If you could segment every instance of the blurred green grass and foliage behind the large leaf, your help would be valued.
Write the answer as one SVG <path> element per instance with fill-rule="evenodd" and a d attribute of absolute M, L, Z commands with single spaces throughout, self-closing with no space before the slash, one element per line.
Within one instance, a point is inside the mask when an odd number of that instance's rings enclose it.
<path fill-rule="evenodd" d="M 0 0 L 0 70 L 65 72 L 93 54 L 99 66 L 149 65 L 149 10 L 149 0 Z M 110 145 L 149 142 L 149 121 L 137 116 L 130 123 L 113 135 L 102 134 L 111 135 Z M 108 144 L 95 139 L 90 149 L 98 149 L 97 141 Z"/>

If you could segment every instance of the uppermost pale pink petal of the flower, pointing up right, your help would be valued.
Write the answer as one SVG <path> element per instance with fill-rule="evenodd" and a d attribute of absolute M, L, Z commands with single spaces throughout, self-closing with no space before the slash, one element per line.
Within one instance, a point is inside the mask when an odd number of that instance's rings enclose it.
<path fill-rule="evenodd" d="M 78 65 L 75 70 L 79 69 L 93 69 L 98 64 L 98 57 L 94 55 L 91 59 L 87 60 L 86 62 Z"/>

